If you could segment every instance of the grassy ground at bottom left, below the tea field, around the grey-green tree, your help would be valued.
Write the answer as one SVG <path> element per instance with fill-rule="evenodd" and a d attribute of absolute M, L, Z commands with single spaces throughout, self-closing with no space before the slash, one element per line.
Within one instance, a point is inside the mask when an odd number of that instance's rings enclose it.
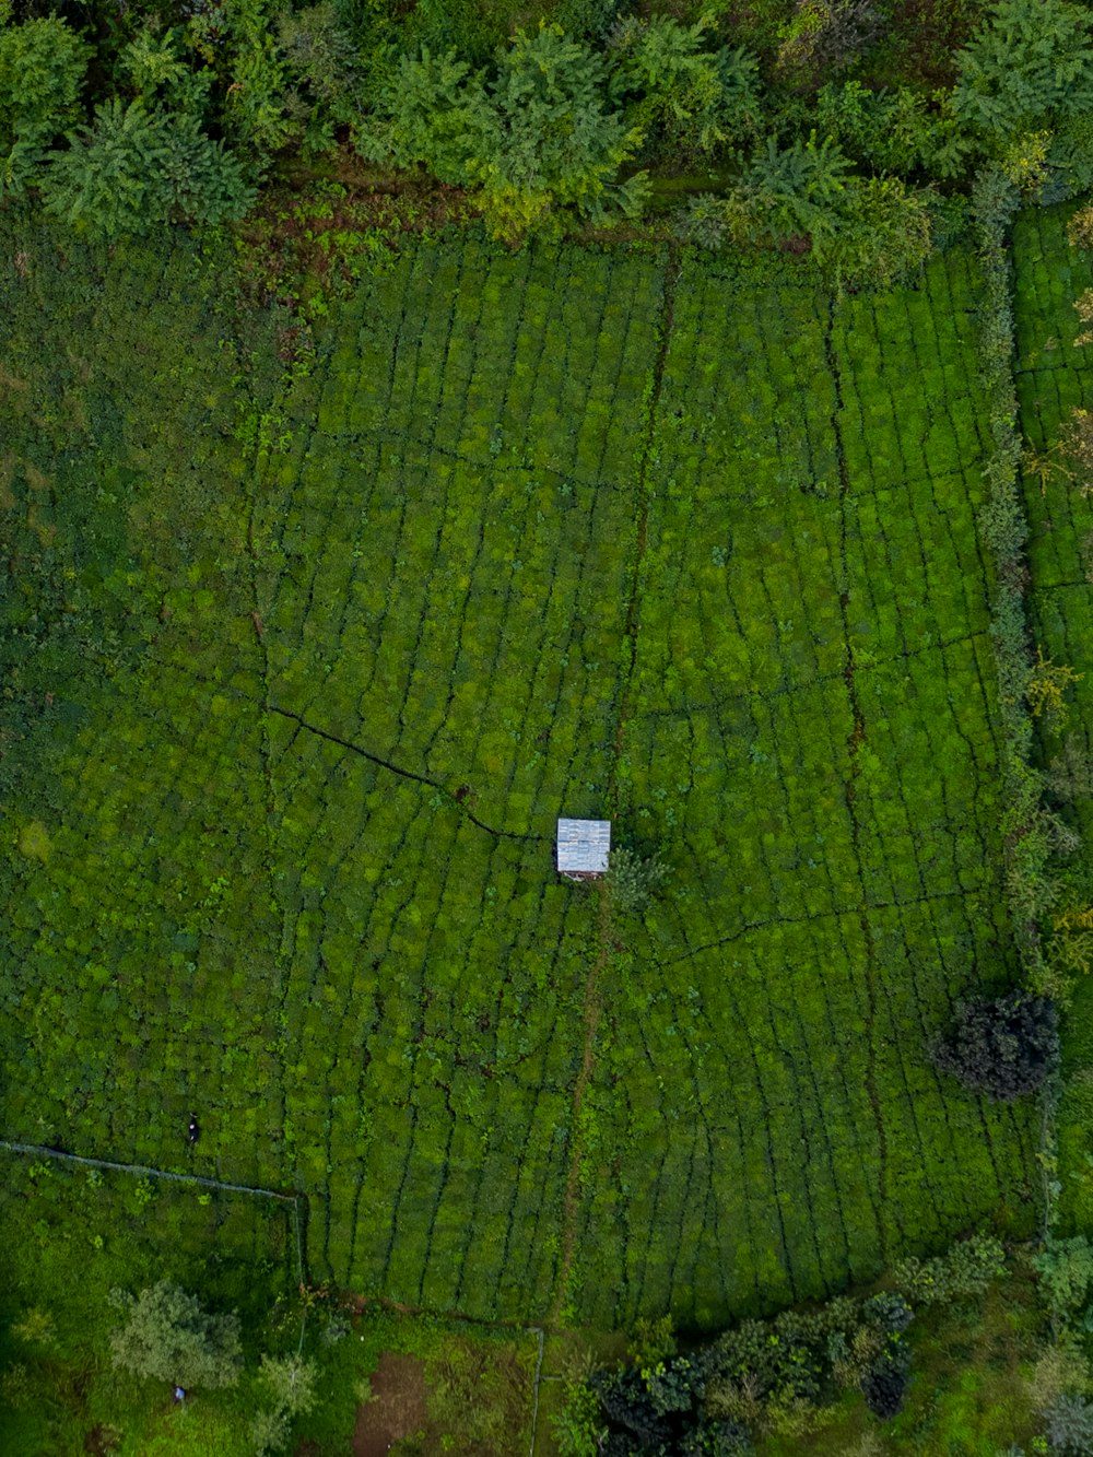
<path fill-rule="evenodd" d="M 404 1457 L 507 1457 L 512 1434 L 526 1450 L 533 1336 L 395 1317 L 328 1289 L 300 1298 L 291 1221 L 268 1199 L 0 1157 L 6 1451 L 58 1457 L 95 1442 L 102 1454 L 254 1457 L 264 1421 L 268 1450 L 307 1440 L 341 1453 L 354 1421 L 389 1429 L 393 1375 L 402 1409 L 405 1389 L 418 1396 L 417 1425 L 402 1431 L 420 1429 L 423 1445 L 407 1442 Z M 124 1319 L 112 1294 L 165 1276 L 201 1291 L 216 1319 L 238 1313 L 243 1368 L 230 1389 L 200 1387 L 179 1403 L 169 1380 L 111 1361 Z"/>

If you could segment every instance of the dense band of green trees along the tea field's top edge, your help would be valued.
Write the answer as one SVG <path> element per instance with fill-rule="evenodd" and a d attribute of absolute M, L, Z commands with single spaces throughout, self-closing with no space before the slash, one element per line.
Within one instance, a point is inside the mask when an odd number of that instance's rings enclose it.
<path fill-rule="evenodd" d="M 465 189 L 516 240 L 638 221 L 682 175 L 685 237 L 886 283 L 984 165 L 1041 200 L 1093 185 L 1084 4 L 737 10 L 0 0 L 0 194 L 118 237 L 239 219 L 287 160 L 356 154 Z"/>

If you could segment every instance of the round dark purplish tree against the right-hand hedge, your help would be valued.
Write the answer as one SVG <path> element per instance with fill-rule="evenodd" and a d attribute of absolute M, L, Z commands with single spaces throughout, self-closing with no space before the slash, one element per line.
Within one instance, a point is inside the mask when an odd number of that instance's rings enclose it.
<path fill-rule="evenodd" d="M 1038 1088 L 1058 1055 L 1058 1014 L 1049 997 L 1010 992 L 995 1001 L 962 1001 L 933 1058 L 969 1091 L 1010 1103 Z"/>

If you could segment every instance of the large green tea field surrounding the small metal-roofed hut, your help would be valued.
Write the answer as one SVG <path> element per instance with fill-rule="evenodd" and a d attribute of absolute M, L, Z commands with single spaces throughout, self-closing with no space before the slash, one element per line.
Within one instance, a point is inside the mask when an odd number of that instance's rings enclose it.
<path fill-rule="evenodd" d="M 1035 1109 L 927 1058 L 1014 969 L 973 258 L 408 243 L 296 363 L 226 267 L 0 262 L 0 1132 L 299 1189 L 312 1278 L 482 1319 L 1030 1231 Z"/>

